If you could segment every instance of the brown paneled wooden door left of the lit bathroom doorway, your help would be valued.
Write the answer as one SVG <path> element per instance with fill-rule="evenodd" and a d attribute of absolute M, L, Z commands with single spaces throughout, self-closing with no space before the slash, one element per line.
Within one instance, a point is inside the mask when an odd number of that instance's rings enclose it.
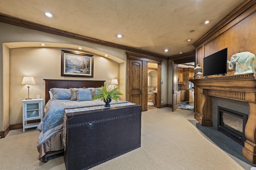
<path fill-rule="evenodd" d="M 142 106 L 142 61 L 128 59 L 128 101 Z"/>

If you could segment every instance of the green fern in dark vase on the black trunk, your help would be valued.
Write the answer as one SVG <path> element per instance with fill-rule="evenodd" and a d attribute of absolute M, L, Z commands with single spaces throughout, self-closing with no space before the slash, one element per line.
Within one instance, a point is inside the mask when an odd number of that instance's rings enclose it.
<path fill-rule="evenodd" d="M 104 86 L 102 86 L 102 89 L 96 89 L 99 93 L 94 96 L 92 100 L 103 100 L 105 102 L 105 107 L 110 107 L 110 102 L 112 100 L 118 102 L 118 99 L 120 100 L 119 95 L 123 95 L 121 92 L 119 92 L 118 88 L 108 88 L 107 83 L 105 82 Z"/>

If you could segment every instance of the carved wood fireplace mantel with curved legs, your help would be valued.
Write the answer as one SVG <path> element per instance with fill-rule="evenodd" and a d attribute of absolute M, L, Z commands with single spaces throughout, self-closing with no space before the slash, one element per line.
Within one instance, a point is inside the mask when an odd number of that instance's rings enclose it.
<path fill-rule="evenodd" d="M 245 127 L 242 155 L 256 163 L 256 73 L 190 79 L 195 88 L 195 119 L 212 126 L 212 96 L 248 102 L 250 113 Z"/>

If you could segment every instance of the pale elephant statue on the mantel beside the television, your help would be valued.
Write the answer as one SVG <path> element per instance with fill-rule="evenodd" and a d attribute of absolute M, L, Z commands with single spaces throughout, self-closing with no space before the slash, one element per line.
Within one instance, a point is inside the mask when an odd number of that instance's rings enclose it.
<path fill-rule="evenodd" d="M 255 55 L 250 52 L 236 53 L 232 55 L 230 61 L 227 61 L 228 69 L 232 70 L 236 66 L 234 74 L 254 73 L 256 59 Z"/>

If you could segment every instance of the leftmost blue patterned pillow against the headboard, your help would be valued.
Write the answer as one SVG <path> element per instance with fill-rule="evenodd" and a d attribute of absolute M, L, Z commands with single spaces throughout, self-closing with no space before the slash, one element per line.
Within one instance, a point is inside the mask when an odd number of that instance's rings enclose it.
<path fill-rule="evenodd" d="M 51 88 L 52 92 L 51 100 L 70 100 L 71 91 L 68 88 Z"/>

